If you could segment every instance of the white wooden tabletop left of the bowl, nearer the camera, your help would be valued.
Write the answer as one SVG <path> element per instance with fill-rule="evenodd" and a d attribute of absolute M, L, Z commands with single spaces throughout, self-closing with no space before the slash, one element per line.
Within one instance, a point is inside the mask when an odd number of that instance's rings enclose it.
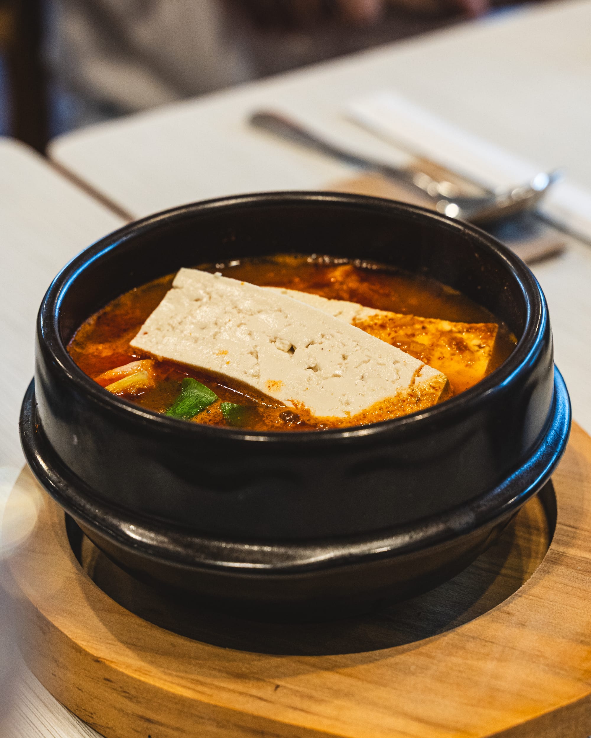
<path fill-rule="evenodd" d="M 72 256 L 121 224 L 120 218 L 56 173 L 41 156 L 0 138 L 0 519 L 3 500 L 24 464 L 18 411 L 33 376 L 35 316 L 41 299 Z M 1 738 L 98 735 L 61 706 L 27 669 L 18 677 L 13 714 L 0 734 Z"/>

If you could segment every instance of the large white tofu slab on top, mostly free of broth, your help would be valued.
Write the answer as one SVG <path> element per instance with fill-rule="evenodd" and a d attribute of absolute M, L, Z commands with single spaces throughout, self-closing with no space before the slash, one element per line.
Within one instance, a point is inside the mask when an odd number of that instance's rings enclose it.
<path fill-rule="evenodd" d="M 181 269 L 131 346 L 225 374 L 318 417 L 344 418 L 445 375 L 300 300 Z"/>

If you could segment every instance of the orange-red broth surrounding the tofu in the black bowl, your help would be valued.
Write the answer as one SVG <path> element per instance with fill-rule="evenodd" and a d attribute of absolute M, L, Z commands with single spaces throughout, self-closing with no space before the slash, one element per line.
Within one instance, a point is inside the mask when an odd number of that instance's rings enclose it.
<path fill-rule="evenodd" d="M 487 373 L 502 364 L 516 344 L 504 323 L 456 290 L 437 280 L 377 263 L 349 262 L 317 255 L 275 255 L 200 265 L 199 269 L 222 272 L 227 277 L 259 286 L 298 289 L 395 313 L 464 323 L 496 323 L 499 330 Z M 68 351 L 84 373 L 96 379 L 108 370 L 147 358 L 132 349 L 129 341 L 171 289 L 173 279 L 174 275 L 160 277 L 120 295 L 78 328 Z M 406 346 L 400 348 L 413 353 Z M 242 382 L 174 362 L 156 361 L 154 372 L 154 387 L 134 396 L 123 394 L 123 397 L 140 407 L 165 413 L 179 396 L 182 379 L 192 377 L 219 397 L 219 401 L 193 418 L 194 422 L 227 426 L 220 402 L 230 402 L 244 407 L 239 424 L 252 430 L 324 430 L 347 424 L 337 418 L 334 423 L 325 418 L 320 421 L 304 408 L 286 407 Z M 451 394 L 454 394 L 453 387 Z M 408 412 L 412 410 L 400 407 L 397 414 Z M 383 418 L 372 417 L 361 422 L 379 419 Z"/>

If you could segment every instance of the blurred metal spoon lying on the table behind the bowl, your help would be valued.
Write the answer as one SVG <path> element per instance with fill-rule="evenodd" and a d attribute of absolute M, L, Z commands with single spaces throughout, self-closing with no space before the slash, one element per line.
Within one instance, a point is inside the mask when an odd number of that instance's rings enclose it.
<path fill-rule="evenodd" d="M 450 218 L 459 218 L 471 223 L 490 223 L 508 215 L 529 210 L 544 196 L 553 182 L 560 179 L 557 171 L 536 174 L 530 182 L 501 193 L 487 193 L 480 197 L 460 196 L 458 188 L 445 179 L 437 180 L 425 172 L 401 169 L 325 141 L 300 123 L 273 111 L 257 111 L 250 116 L 250 124 L 264 128 L 277 136 L 298 143 L 312 151 L 333 156 L 349 164 L 371 169 L 386 177 L 405 182 L 420 190 L 434 201 L 435 209 Z"/>

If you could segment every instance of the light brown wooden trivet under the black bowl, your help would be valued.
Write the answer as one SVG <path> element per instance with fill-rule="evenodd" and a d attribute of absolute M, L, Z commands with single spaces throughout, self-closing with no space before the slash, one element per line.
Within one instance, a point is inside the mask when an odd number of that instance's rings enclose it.
<path fill-rule="evenodd" d="M 21 649 L 49 692 L 108 738 L 584 738 L 591 438 L 576 426 L 553 486 L 550 545 L 551 485 L 545 507 L 530 500 L 437 590 L 293 626 L 171 601 L 85 540 L 81 565 L 63 512 L 24 471 L 13 494 L 36 496 L 40 511 L 12 562 Z"/>

